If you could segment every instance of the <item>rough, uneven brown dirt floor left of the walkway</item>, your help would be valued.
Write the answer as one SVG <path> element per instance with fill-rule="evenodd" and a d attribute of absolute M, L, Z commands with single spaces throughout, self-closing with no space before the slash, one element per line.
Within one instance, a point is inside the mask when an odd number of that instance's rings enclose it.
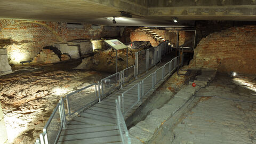
<path fill-rule="evenodd" d="M 13 67 L 13 74 L 0 76 L 0 101 L 11 143 L 34 143 L 60 97 L 110 75 L 72 69 L 79 63 L 81 60 L 24 65 Z"/>

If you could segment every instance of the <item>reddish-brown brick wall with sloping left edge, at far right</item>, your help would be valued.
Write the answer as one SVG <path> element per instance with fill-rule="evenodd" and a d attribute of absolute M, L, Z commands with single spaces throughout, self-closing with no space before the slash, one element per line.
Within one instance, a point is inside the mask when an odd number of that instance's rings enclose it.
<path fill-rule="evenodd" d="M 256 26 L 231 27 L 202 38 L 191 67 L 256 73 Z"/>

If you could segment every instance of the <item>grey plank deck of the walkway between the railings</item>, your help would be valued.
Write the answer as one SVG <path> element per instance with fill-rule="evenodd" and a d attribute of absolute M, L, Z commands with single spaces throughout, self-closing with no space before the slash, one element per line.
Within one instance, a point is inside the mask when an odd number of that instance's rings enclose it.
<path fill-rule="evenodd" d="M 150 69 L 148 73 L 143 74 L 135 81 L 127 84 L 122 89 L 110 94 L 101 102 L 95 104 L 89 109 L 82 111 L 78 116 L 74 117 L 68 123 L 68 128 L 62 130 L 58 143 L 122 143 L 119 134 L 117 122 L 116 122 L 116 103 L 115 100 L 118 96 L 122 95 L 123 92 L 130 89 L 133 85 L 139 83 L 147 77 L 148 75 L 154 73 L 156 69 L 163 66 L 164 63 L 159 63 L 156 67 Z M 169 76 L 168 74 L 165 79 Z M 157 74 L 157 78 L 162 78 L 162 74 Z M 147 97 L 154 92 L 154 90 L 163 83 L 163 81 L 158 82 L 155 88 L 151 90 L 147 95 L 142 98 L 142 102 L 147 99 Z M 150 87 L 150 82 L 145 82 L 146 87 Z M 125 103 L 127 105 L 132 105 L 132 103 L 137 100 L 136 92 L 130 92 L 130 94 L 125 95 Z M 138 103 L 130 111 L 124 115 L 124 119 L 127 119 L 132 113 L 141 105 Z"/>

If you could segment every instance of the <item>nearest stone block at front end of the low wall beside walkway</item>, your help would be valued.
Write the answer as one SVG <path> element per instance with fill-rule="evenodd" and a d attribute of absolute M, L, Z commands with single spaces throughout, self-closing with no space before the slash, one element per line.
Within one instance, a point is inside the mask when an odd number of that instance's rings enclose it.
<path fill-rule="evenodd" d="M 133 135 L 135 138 L 139 139 L 140 141 L 149 141 L 153 137 L 153 133 L 144 131 L 137 126 L 133 126 L 129 130 L 129 134 Z"/>

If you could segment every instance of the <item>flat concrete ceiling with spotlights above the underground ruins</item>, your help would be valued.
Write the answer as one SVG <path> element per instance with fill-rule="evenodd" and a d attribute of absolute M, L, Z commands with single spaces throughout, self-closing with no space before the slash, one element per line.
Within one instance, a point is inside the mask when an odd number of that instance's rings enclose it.
<path fill-rule="evenodd" d="M 118 17 L 115 19 L 116 26 L 158 27 L 190 27 L 194 25 L 195 20 L 256 20 L 255 5 L 249 8 L 246 5 L 203 8 L 202 6 L 147 7 L 136 2 L 132 0 L 0 0 L 0 18 L 114 25 L 112 17 L 115 16 Z M 130 12 L 133 18 L 121 17 L 119 11 Z M 174 17 L 179 18 L 177 23 L 172 21 Z"/>

